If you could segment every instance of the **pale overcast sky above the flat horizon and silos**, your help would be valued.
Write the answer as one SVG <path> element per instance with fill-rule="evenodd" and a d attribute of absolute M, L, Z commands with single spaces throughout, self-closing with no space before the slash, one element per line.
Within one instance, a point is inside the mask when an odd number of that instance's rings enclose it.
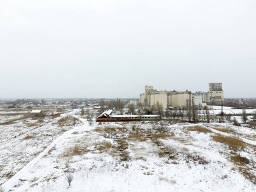
<path fill-rule="evenodd" d="M 256 97 L 256 1 L 1 0 L 0 98 Z"/>

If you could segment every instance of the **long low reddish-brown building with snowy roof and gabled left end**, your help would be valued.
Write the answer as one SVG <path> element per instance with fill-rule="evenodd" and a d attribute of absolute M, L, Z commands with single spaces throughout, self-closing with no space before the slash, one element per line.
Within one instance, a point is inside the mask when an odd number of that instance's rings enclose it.
<path fill-rule="evenodd" d="M 113 110 L 109 109 L 97 116 L 96 122 L 131 122 L 140 120 L 159 120 L 159 115 L 112 115 Z"/>

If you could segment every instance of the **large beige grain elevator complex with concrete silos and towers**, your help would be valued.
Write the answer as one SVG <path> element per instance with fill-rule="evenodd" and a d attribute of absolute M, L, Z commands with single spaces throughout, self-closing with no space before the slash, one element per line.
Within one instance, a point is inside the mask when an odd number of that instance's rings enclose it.
<path fill-rule="evenodd" d="M 206 104 L 221 104 L 224 101 L 224 92 L 222 83 L 209 83 L 208 92 L 195 92 L 189 90 L 185 92 L 157 91 L 153 86 L 145 86 L 145 92 L 140 95 L 140 102 L 144 106 L 152 107 L 157 102 L 163 105 L 163 108 L 188 108 L 195 104 L 196 106 L 205 106 Z"/>

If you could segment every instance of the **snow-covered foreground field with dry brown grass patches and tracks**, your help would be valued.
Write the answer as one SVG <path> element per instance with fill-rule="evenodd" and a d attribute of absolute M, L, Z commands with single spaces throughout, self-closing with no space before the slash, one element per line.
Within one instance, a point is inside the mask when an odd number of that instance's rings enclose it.
<path fill-rule="evenodd" d="M 254 129 L 168 121 L 90 125 L 72 114 L 3 147 L 4 138 L 31 127 L 24 120 L 0 125 L 5 191 L 256 191 Z"/>

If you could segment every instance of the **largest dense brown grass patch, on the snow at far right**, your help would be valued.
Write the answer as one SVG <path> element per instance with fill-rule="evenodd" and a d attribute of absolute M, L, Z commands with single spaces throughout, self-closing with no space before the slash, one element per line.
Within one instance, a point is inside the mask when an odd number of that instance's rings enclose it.
<path fill-rule="evenodd" d="M 242 141 L 239 138 L 231 137 L 231 136 L 222 136 L 221 134 L 217 134 L 215 136 L 212 136 L 212 139 L 214 141 L 218 141 L 220 143 L 224 143 L 225 145 L 228 145 L 233 150 L 237 150 L 237 148 L 245 148 L 246 143 Z"/>

